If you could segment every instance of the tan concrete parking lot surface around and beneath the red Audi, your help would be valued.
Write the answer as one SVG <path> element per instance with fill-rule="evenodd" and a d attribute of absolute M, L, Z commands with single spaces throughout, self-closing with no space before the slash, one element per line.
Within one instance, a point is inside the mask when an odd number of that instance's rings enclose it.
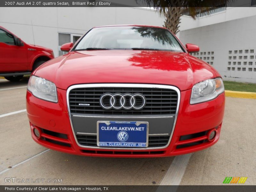
<path fill-rule="evenodd" d="M 221 185 L 247 177 L 256 185 L 256 100 L 226 98 L 220 140 L 193 154 L 164 158 L 100 158 L 48 150 L 30 136 L 28 78 L 0 79 L 0 185 L 5 178 L 61 179 L 60 185 Z M 53 184 L 44 182 L 31 184 Z"/>

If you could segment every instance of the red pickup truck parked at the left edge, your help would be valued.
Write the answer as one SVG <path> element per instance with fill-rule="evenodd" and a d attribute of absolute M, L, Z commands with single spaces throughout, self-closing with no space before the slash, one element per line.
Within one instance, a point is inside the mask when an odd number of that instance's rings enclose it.
<path fill-rule="evenodd" d="M 26 44 L 0 26 L 0 76 L 9 81 L 19 81 L 53 58 L 52 49 Z"/>

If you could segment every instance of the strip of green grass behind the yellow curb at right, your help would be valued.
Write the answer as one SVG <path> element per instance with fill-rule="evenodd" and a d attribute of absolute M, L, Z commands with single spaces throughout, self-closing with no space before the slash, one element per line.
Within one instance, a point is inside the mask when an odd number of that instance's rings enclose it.
<path fill-rule="evenodd" d="M 253 83 L 240 83 L 233 81 L 223 81 L 225 90 L 229 91 L 244 91 L 256 92 L 256 84 Z"/>

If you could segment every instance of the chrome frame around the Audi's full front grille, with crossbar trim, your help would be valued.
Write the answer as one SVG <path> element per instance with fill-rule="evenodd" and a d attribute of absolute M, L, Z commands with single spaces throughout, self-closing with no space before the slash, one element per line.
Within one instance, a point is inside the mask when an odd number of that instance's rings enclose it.
<path fill-rule="evenodd" d="M 174 90 L 177 92 L 177 107 L 176 107 L 176 112 L 175 112 L 175 119 L 174 119 L 174 123 L 172 126 L 172 132 L 170 134 L 170 138 L 169 141 L 167 143 L 166 146 L 164 147 L 148 147 L 148 148 L 107 148 L 107 147 L 90 147 L 90 146 L 83 146 L 80 145 L 79 142 L 76 139 L 76 133 L 74 131 L 74 127 L 73 127 L 73 123 L 72 123 L 72 118 L 71 118 L 71 113 L 70 113 L 70 106 L 69 106 L 69 92 L 72 89 L 76 89 L 76 88 L 105 88 L 105 87 L 119 87 L 119 88 L 123 88 L 123 87 L 130 87 L 130 88 L 158 88 L 158 89 L 170 89 L 170 90 Z M 175 124 L 176 124 L 176 120 L 177 120 L 177 116 L 178 116 L 178 112 L 179 112 L 179 106 L 180 106 L 180 90 L 175 87 L 175 86 L 171 86 L 171 85 L 159 85 L 159 84 L 77 84 L 77 85 L 71 85 L 70 87 L 68 87 L 67 89 L 67 105 L 68 105 L 68 115 L 69 115 L 69 120 L 70 120 L 70 124 L 71 124 L 71 128 L 72 128 L 72 132 L 74 135 L 74 138 L 76 140 L 76 144 L 81 147 L 81 148 L 94 148 L 94 149 L 117 149 L 117 150 L 150 150 L 150 149 L 163 149 L 168 147 L 168 145 L 171 142 L 172 139 L 172 135 L 175 129 Z M 83 116 L 83 115 L 82 115 Z M 84 115 L 84 117 L 87 117 L 86 115 Z M 114 116 L 93 116 L 93 117 L 104 117 L 104 118 L 113 118 Z M 120 117 L 120 118 L 173 118 L 173 116 L 115 116 L 115 117 Z M 146 121 L 146 120 L 145 120 Z M 96 125 L 95 125 L 96 126 Z"/>

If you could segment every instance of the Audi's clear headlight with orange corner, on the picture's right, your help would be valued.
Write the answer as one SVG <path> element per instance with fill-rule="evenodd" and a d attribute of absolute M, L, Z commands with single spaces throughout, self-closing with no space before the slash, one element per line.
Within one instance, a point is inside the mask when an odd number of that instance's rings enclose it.
<path fill-rule="evenodd" d="M 212 100 L 223 92 L 224 84 L 220 77 L 202 81 L 193 86 L 190 104 Z"/>

